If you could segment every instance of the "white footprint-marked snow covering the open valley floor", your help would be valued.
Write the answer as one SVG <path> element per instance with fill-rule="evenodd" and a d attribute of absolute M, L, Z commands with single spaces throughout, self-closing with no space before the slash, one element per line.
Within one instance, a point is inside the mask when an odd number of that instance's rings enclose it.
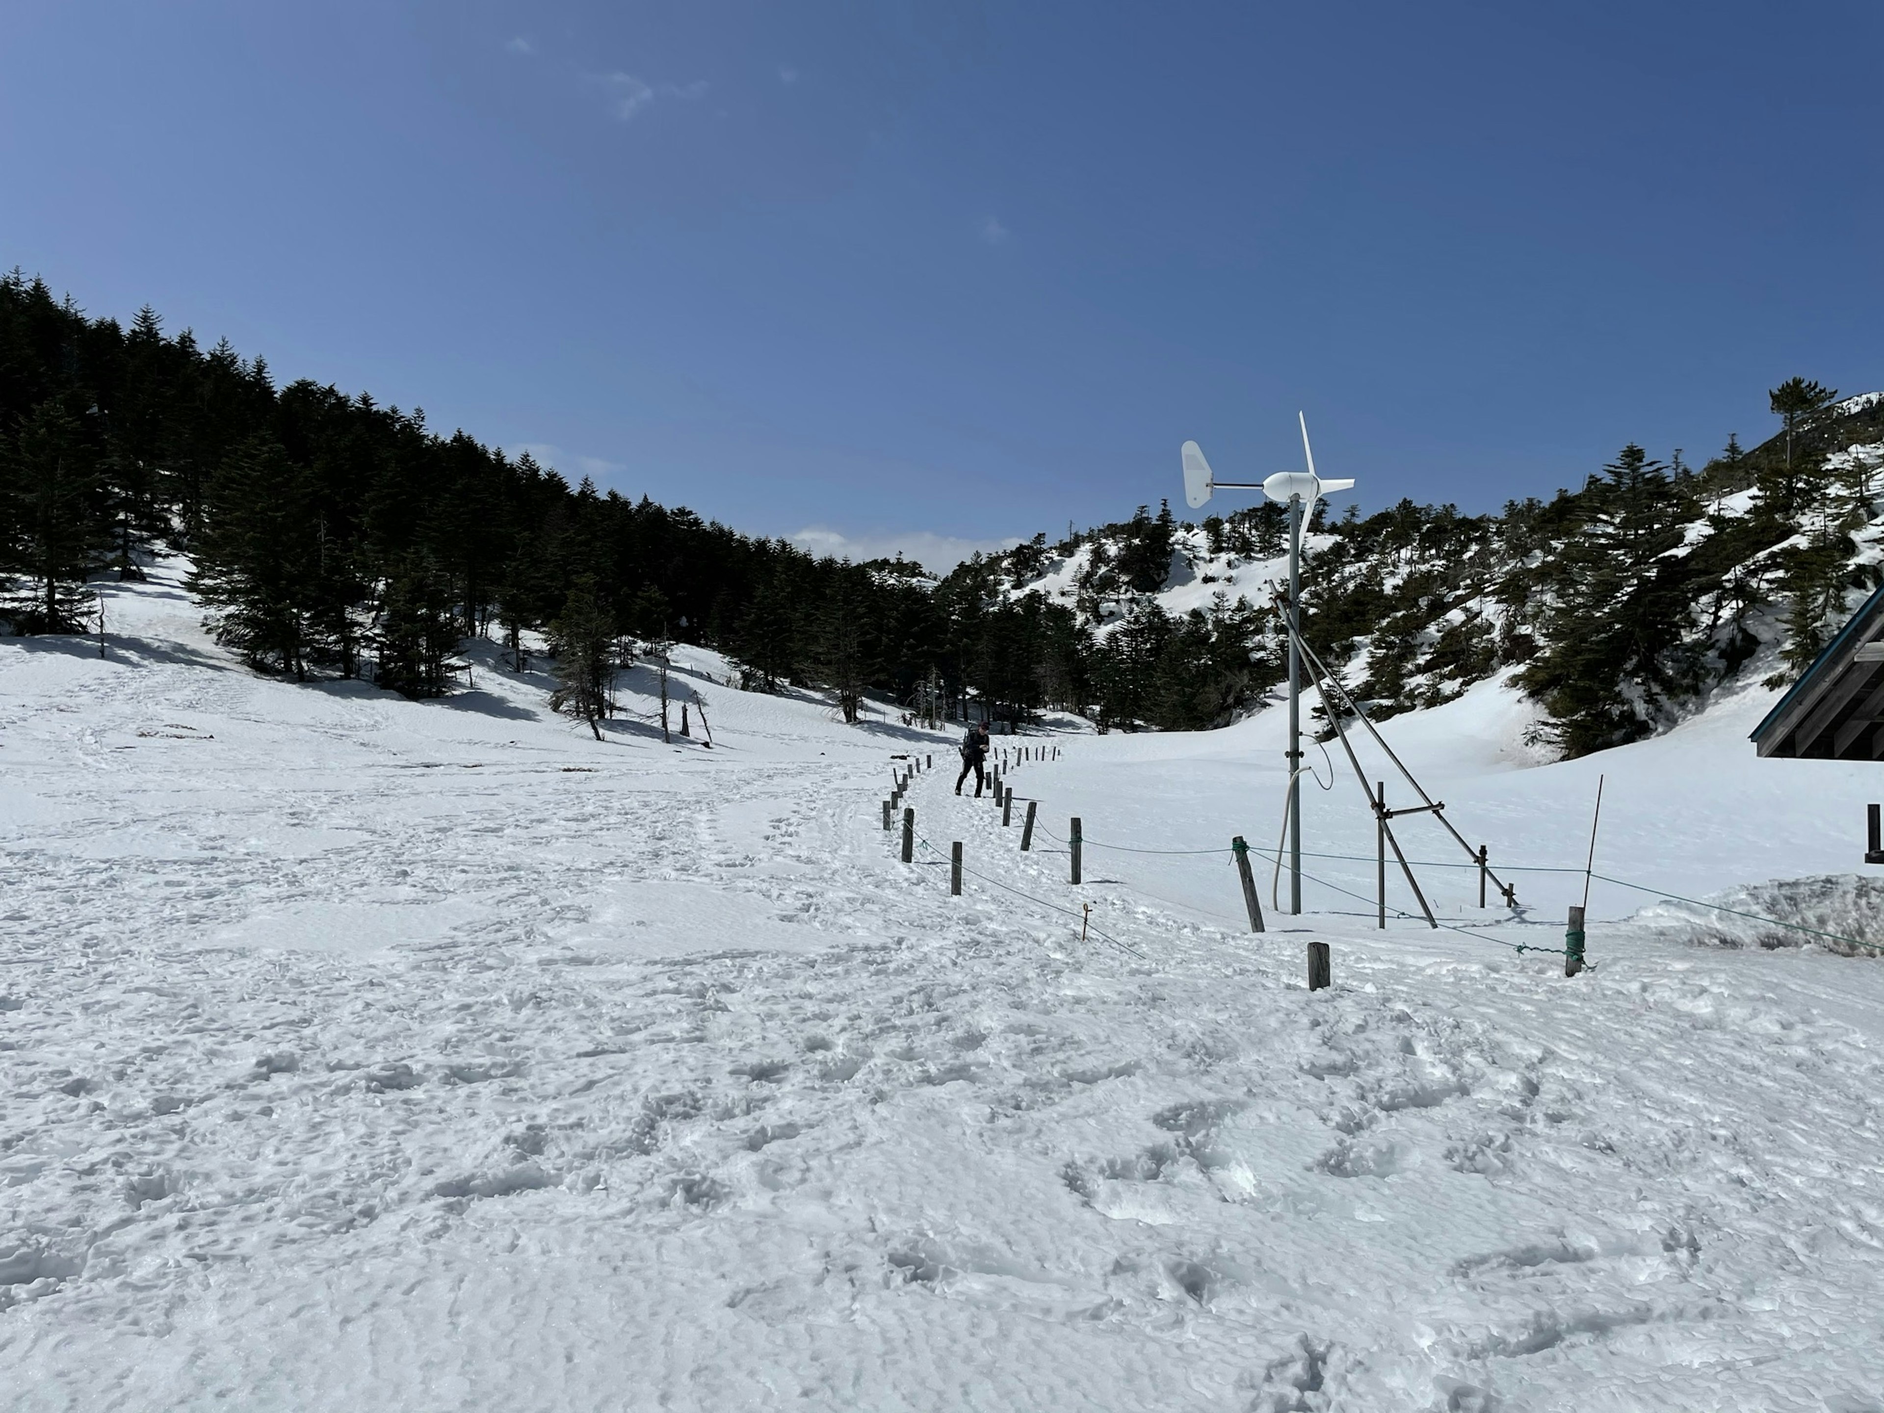
<path fill-rule="evenodd" d="M 1430 867 L 1460 933 L 1311 884 L 1253 936 L 1279 712 L 1019 767 L 1076 889 L 946 737 L 710 654 L 705 750 L 494 652 L 443 703 L 260 680 L 173 577 L 109 624 L 0 642 L 6 1407 L 1884 1409 L 1880 961 L 1598 882 L 1571 982 L 1500 938 L 1581 876 L 1479 927 Z M 1496 684 L 1387 729 L 1494 863 L 1581 867 L 1603 772 L 1598 872 L 1861 870 L 1884 774 L 1756 761 L 1769 701 L 1551 767 Z M 1372 853 L 1358 801 L 1309 789 L 1313 853 Z"/>

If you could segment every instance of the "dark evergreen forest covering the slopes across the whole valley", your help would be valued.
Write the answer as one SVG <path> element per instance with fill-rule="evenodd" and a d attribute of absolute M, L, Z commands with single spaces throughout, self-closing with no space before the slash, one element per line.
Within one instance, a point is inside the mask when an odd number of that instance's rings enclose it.
<path fill-rule="evenodd" d="M 1304 635 L 1377 716 L 1511 669 L 1567 755 L 1664 729 L 1746 671 L 1782 682 L 1880 582 L 1884 399 L 1795 377 L 1758 411 L 1780 426 L 1752 448 L 1728 437 L 1692 467 L 1630 445 L 1581 488 L 1500 514 L 1323 505 Z M 825 691 L 852 722 L 887 699 L 1200 729 L 1283 676 L 1260 573 L 1283 552 L 1281 511 L 1259 503 L 1200 526 L 1144 507 L 944 577 L 818 560 L 571 486 L 418 409 L 277 386 L 260 356 L 166 333 L 149 307 L 124 326 L 21 271 L 0 279 L 0 620 L 15 633 L 102 631 L 96 580 L 181 556 L 217 641 L 294 680 L 437 697 L 463 641 L 490 637 L 518 667 L 550 654 L 558 706 L 595 725 L 616 669 L 688 641 L 746 688 Z M 1198 582 L 1206 605 L 1168 603 Z"/>

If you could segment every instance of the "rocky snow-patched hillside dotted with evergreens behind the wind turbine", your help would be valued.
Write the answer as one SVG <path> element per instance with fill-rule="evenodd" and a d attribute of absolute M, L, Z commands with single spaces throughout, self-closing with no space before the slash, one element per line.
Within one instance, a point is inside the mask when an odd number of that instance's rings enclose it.
<path fill-rule="evenodd" d="M 1850 398 L 1701 469 L 1624 447 L 1579 490 L 1500 514 L 1358 514 L 1343 492 L 1306 541 L 1304 633 L 1375 716 L 1503 674 L 1558 754 L 1664 733 L 1745 680 L 1795 678 L 1884 582 L 1880 409 Z M 1287 575 L 1281 507 L 1226 499 L 1198 526 L 1140 507 L 957 575 L 1089 631 L 1096 720 L 1223 725 L 1283 674 Z"/>

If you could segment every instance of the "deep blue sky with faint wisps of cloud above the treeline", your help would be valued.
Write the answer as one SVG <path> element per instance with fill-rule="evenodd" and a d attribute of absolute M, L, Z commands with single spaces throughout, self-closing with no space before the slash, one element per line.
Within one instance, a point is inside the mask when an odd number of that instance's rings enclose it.
<path fill-rule="evenodd" d="M 0 262 L 946 560 L 1300 458 L 1494 509 L 1884 386 L 1876 4 L 41 4 Z M 1236 479 L 1242 479 L 1240 475 Z M 1226 501 L 1228 503 L 1228 501 Z"/>

